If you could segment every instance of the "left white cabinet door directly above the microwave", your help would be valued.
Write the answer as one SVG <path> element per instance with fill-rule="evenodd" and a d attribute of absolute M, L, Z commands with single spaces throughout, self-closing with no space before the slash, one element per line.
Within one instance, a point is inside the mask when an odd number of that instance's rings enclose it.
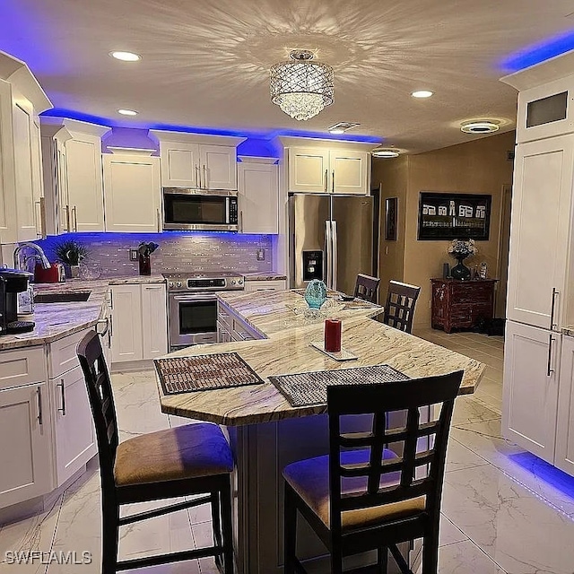
<path fill-rule="evenodd" d="M 162 187 L 199 187 L 197 143 L 162 143 L 160 154 Z"/>

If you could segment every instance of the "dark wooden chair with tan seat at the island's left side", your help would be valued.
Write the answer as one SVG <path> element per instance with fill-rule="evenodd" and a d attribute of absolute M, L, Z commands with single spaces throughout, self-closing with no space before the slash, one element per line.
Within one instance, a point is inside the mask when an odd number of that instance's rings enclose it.
<path fill-rule="evenodd" d="M 196 423 L 118 441 L 116 408 L 100 337 L 91 331 L 78 344 L 78 359 L 91 404 L 100 458 L 102 574 L 213 556 L 224 574 L 233 574 L 230 446 L 216 424 Z M 201 495 L 126 517 L 122 505 Z M 117 560 L 119 526 L 210 503 L 212 546 Z"/>

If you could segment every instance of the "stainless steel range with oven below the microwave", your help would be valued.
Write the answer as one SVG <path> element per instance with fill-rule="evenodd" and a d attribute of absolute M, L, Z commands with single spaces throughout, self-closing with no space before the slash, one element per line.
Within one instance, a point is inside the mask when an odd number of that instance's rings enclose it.
<path fill-rule="evenodd" d="M 164 274 L 168 280 L 170 352 L 217 343 L 217 292 L 243 290 L 241 275 Z"/>

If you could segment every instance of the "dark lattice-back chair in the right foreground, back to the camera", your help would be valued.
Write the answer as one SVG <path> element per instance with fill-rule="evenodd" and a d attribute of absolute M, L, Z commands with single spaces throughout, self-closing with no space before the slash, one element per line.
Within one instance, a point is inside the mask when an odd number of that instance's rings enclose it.
<path fill-rule="evenodd" d="M 423 539 L 422 574 L 437 574 L 448 429 L 462 377 L 327 387 L 329 455 L 283 469 L 284 574 L 307 572 L 296 556 L 298 511 L 330 552 L 333 574 L 343 572 L 344 557 L 373 550 L 378 573 L 387 572 L 390 551 L 413 574 L 396 544 L 415 538 Z M 421 422 L 424 407 L 434 413 L 438 404 L 438 418 Z M 387 413 L 397 411 L 404 427 L 387 429 Z M 357 414 L 372 415 L 371 430 L 343 432 L 345 416 Z"/>

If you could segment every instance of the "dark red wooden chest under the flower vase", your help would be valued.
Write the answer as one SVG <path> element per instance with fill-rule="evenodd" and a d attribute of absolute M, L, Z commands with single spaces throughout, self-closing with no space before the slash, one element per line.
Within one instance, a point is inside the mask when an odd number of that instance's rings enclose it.
<path fill-rule="evenodd" d="M 473 327 L 480 318 L 494 317 L 494 284 L 498 279 L 431 279 L 433 329 Z"/>

